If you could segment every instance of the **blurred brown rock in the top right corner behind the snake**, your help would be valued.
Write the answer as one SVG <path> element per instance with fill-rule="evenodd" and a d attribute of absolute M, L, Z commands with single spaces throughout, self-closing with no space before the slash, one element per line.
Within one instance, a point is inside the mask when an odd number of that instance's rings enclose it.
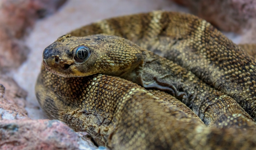
<path fill-rule="evenodd" d="M 219 29 L 240 33 L 256 18 L 255 0 L 173 0 Z"/>

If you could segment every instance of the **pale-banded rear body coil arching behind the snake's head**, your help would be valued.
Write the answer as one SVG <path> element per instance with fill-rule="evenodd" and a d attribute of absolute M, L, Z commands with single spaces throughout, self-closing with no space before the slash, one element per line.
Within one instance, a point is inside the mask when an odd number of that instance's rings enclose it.
<path fill-rule="evenodd" d="M 154 11 L 102 20 L 68 34 L 100 33 L 129 39 L 181 65 L 230 95 L 256 120 L 254 58 L 205 20 L 189 14 Z"/>

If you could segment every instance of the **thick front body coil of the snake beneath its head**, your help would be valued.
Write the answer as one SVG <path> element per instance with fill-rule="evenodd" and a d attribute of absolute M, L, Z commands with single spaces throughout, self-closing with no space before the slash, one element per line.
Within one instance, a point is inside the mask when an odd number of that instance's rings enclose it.
<path fill-rule="evenodd" d="M 176 104 L 118 77 L 65 78 L 42 67 L 36 96 L 51 119 L 90 133 L 112 150 L 256 149 L 255 130 L 205 127 Z"/>

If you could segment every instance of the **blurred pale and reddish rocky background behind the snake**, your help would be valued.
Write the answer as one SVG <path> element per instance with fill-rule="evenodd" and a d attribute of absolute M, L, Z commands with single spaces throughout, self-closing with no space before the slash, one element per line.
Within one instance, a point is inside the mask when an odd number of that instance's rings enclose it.
<path fill-rule="evenodd" d="M 34 85 L 43 49 L 59 36 L 105 18 L 166 10 L 198 15 L 237 44 L 254 42 L 255 6 L 253 0 L 0 0 L 0 75 L 25 90 L 16 103 L 28 117 L 47 118 Z"/>

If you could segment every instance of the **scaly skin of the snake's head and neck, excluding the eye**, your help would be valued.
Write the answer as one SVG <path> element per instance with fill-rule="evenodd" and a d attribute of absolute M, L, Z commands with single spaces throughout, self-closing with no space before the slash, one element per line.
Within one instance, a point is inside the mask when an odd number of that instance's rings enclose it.
<path fill-rule="evenodd" d="M 73 55 L 76 47 L 81 45 L 91 52 L 82 62 Z M 50 72 L 64 77 L 102 73 L 120 76 L 144 88 L 168 91 L 192 106 L 195 114 L 209 126 L 256 129 L 250 115 L 233 98 L 210 87 L 181 66 L 118 36 L 62 36 L 45 48 L 43 62 Z M 72 64 L 67 67 L 67 62 Z"/>

